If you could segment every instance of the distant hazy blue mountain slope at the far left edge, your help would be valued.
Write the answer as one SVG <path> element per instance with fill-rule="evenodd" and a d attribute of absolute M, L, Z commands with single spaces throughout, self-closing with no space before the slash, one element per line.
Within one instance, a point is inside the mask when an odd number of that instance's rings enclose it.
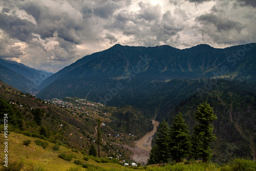
<path fill-rule="evenodd" d="M 20 91 L 31 94 L 38 93 L 38 85 L 42 80 L 53 74 L 47 71 L 39 71 L 27 67 L 22 63 L 2 58 L 0 58 L 0 69 L 2 73 L 0 79 Z"/>

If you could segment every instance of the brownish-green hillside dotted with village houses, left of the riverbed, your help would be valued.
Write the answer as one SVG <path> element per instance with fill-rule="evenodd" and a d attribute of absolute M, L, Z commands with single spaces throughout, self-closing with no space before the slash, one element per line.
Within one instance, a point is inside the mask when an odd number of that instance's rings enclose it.
<path fill-rule="evenodd" d="M 133 144 L 135 139 L 144 135 L 143 133 L 151 131 L 151 122 L 143 116 L 140 116 L 140 119 L 146 121 L 135 122 L 135 125 L 142 127 L 140 127 L 140 131 L 131 130 L 131 133 L 138 133 L 132 137 L 125 130 L 120 129 L 120 125 L 111 120 L 112 112 L 116 111 L 116 108 L 79 98 L 78 100 L 77 98 L 66 98 L 67 101 L 63 102 L 60 99 L 45 102 L 19 92 L 3 82 L 0 84 L 1 132 L 4 130 L 4 114 L 8 113 L 9 131 L 39 138 L 49 143 L 74 149 L 74 151 L 84 151 L 84 154 L 88 154 L 90 145 L 96 146 L 96 118 L 100 118 L 102 121 L 100 154 L 101 156 L 109 156 L 113 153 L 121 154 L 121 161 L 123 159 L 130 160 L 131 152 L 111 145 L 111 143 Z M 54 101 L 61 101 L 61 103 Z M 129 115 L 137 114 L 138 111 L 134 109 Z M 114 126 L 115 129 L 112 129 L 111 126 Z M 42 133 L 42 129 L 45 130 L 45 133 Z M 121 134 L 122 136 L 116 137 Z"/>

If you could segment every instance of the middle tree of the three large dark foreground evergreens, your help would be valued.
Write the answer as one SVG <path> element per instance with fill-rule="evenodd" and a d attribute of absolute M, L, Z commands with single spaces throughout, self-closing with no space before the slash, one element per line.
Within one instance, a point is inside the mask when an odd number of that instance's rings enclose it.
<path fill-rule="evenodd" d="M 170 156 L 176 162 L 181 162 L 182 158 L 189 156 L 191 143 L 188 133 L 187 125 L 179 112 L 170 128 L 169 144 Z"/>

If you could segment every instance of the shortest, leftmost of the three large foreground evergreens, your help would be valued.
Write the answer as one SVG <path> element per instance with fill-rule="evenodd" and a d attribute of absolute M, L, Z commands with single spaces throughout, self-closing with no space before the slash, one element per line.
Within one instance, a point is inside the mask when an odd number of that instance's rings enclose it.
<path fill-rule="evenodd" d="M 168 123 L 163 120 L 160 123 L 160 127 L 157 131 L 157 137 L 155 140 L 155 146 L 151 149 L 150 159 L 148 164 L 155 164 L 160 162 L 167 162 L 170 153 L 169 153 L 169 126 Z M 154 160 L 153 160 L 154 159 Z M 154 162 L 154 163 L 153 163 Z"/>

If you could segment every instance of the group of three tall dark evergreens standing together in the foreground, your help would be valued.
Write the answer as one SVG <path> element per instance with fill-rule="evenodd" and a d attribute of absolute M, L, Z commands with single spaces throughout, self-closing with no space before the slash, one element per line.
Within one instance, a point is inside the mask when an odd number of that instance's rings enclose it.
<path fill-rule="evenodd" d="M 211 122 L 217 119 L 213 108 L 205 101 L 198 105 L 194 119 L 198 122 L 190 136 L 182 114 L 174 117 L 171 126 L 163 120 L 157 132 L 155 146 L 151 149 L 147 164 L 166 163 L 170 160 L 181 162 L 183 158 L 203 162 L 211 159 L 210 142 L 216 140 Z"/>

